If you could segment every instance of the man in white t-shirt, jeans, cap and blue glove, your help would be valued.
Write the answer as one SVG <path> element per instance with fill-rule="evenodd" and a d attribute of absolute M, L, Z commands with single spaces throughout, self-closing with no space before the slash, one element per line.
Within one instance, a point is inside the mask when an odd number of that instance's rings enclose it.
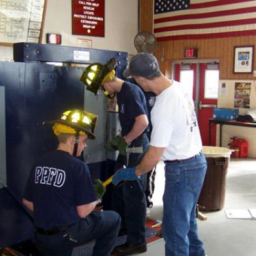
<path fill-rule="evenodd" d="M 165 255 L 204 256 L 197 232 L 196 202 L 204 184 L 207 163 L 201 152 L 193 99 L 182 84 L 161 73 L 152 54 L 133 56 L 124 75 L 132 76 L 145 92 L 154 92 L 157 96 L 151 112 L 150 148 L 138 166 L 116 172 L 113 184 L 140 179 L 140 175 L 163 160 Z"/>

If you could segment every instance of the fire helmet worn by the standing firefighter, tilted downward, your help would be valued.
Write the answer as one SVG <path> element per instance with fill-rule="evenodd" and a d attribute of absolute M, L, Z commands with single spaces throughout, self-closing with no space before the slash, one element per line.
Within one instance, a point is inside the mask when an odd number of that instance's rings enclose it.
<path fill-rule="evenodd" d="M 84 70 L 80 81 L 84 83 L 87 90 L 93 92 L 95 95 L 97 95 L 98 90 L 101 89 L 104 92 L 104 95 L 109 97 L 109 93 L 106 92 L 101 85 L 113 80 L 113 77 L 115 76 L 115 65 L 115 58 L 111 58 L 106 65 L 93 63 Z"/>

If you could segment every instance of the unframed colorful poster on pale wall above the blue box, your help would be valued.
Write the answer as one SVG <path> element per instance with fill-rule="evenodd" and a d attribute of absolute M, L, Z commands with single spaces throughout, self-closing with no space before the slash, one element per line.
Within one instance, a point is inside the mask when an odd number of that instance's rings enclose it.
<path fill-rule="evenodd" d="M 250 108 L 251 83 L 235 83 L 235 108 Z"/>

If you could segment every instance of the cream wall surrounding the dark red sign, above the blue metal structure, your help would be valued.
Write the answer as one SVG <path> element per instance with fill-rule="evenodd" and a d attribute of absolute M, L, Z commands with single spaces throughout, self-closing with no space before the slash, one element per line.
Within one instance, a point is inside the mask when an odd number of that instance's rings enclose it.
<path fill-rule="evenodd" d="M 47 0 L 42 44 L 46 33 L 61 34 L 62 44 L 77 46 L 77 38 L 92 40 L 94 49 L 135 54 L 138 33 L 138 0 L 105 0 L 105 37 L 72 35 L 71 0 Z M 0 61 L 13 58 L 12 47 L 0 46 Z"/>

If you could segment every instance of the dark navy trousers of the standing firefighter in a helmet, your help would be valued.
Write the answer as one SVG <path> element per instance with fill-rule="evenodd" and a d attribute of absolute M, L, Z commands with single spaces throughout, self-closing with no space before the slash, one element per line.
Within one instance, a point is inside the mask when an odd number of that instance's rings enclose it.
<path fill-rule="evenodd" d="M 130 147 L 140 146 L 143 146 L 143 153 L 130 154 L 128 164 L 127 157 L 119 154 L 116 159 L 115 170 L 123 168 L 124 165 L 134 167 L 140 163 L 149 147 L 146 134 L 132 141 L 130 145 Z M 122 228 L 127 230 L 127 243 L 146 242 L 146 184 L 147 175 L 145 174 L 140 182 L 138 180 L 126 181 L 122 185 L 114 187 L 112 191 L 112 209 L 121 216 Z"/>

